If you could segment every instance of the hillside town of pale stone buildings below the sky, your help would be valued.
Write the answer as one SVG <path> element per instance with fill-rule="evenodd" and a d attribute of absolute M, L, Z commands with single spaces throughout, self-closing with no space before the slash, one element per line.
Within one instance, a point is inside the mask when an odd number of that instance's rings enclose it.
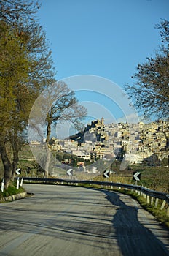
<path fill-rule="evenodd" d="M 169 123 L 104 124 L 104 119 L 92 121 L 80 132 L 65 140 L 51 138 L 50 149 L 73 154 L 79 159 L 125 158 L 130 164 L 153 164 L 154 159 L 168 159 Z M 155 157 L 154 157 L 155 156 Z"/>

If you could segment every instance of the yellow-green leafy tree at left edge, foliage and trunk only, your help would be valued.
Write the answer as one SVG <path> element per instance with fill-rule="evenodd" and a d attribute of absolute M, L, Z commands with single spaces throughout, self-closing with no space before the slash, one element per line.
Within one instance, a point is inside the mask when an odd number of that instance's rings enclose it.
<path fill-rule="evenodd" d="M 25 55 L 25 49 L 20 48 L 20 42 L 15 36 L 10 26 L 6 23 L 0 23 L 1 29 L 1 60 L 0 60 L 0 94 L 1 94 L 1 138 L 0 151 L 1 159 L 4 164 L 5 184 L 8 184 L 12 175 L 13 167 L 18 162 L 18 150 L 20 136 L 15 140 L 18 134 L 23 130 L 25 121 L 25 105 L 28 100 L 25 83 L 28 78 L 28 59 Z M 20 121 L 22 119 L 22 121 Z M 13 148 L 14 161 L 9 161 L 7 146 Z"/>

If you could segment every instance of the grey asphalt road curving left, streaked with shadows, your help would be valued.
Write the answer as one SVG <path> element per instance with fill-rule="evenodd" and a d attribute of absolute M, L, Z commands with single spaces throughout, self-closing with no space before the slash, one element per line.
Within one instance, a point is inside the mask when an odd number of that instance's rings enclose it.
<path fill-rule="evenodd" d="M 169 232 L 129 196 L 24 186 L 34 196 L 0 204 L 0 256 L 169 255 Z"/>

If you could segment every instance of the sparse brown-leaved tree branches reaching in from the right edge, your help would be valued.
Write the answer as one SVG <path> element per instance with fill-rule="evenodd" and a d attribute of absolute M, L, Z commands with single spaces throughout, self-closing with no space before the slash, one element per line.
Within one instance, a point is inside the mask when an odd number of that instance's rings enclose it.
<path fill-rule="evenodd" d="M 156 28 L 160 29 L 161 47 L 154 58 L 147 58 L 144 64 L 138 64 L 133 75 L 136 83 L 125 86 L 125 89 L 135 107 L 143 110 L 146 117 L 168 120 L 169 21 L 161 20 Z"/>

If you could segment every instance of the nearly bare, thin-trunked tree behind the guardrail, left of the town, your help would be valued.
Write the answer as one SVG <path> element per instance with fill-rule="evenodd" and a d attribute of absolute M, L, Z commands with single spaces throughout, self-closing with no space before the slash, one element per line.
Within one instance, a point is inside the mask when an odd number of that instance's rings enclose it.
<path fill-rule="evenodd" d="M 56 127 L 64 121 L 71 123 L 76 129 L 82 129 L 82 120 L 86 116 L 86 109 L 78 104 L 74 91 L 68 88 L 66 83 L 55 82 L 48 86 L 36 99 L 29 118 L 29 140 L 33 138 L 44 138 L 45 162 L 40 164 L 44 168 L 44 175 L 48 176 L 51 164 L 51 152 L 49 148 L 52 127 Z M 34 150 L 35 149 L 35 150 Z M 38 158 L 39 152 L 32 149 Z M 42 153 L 42 152 L 41 152 Z"/>

